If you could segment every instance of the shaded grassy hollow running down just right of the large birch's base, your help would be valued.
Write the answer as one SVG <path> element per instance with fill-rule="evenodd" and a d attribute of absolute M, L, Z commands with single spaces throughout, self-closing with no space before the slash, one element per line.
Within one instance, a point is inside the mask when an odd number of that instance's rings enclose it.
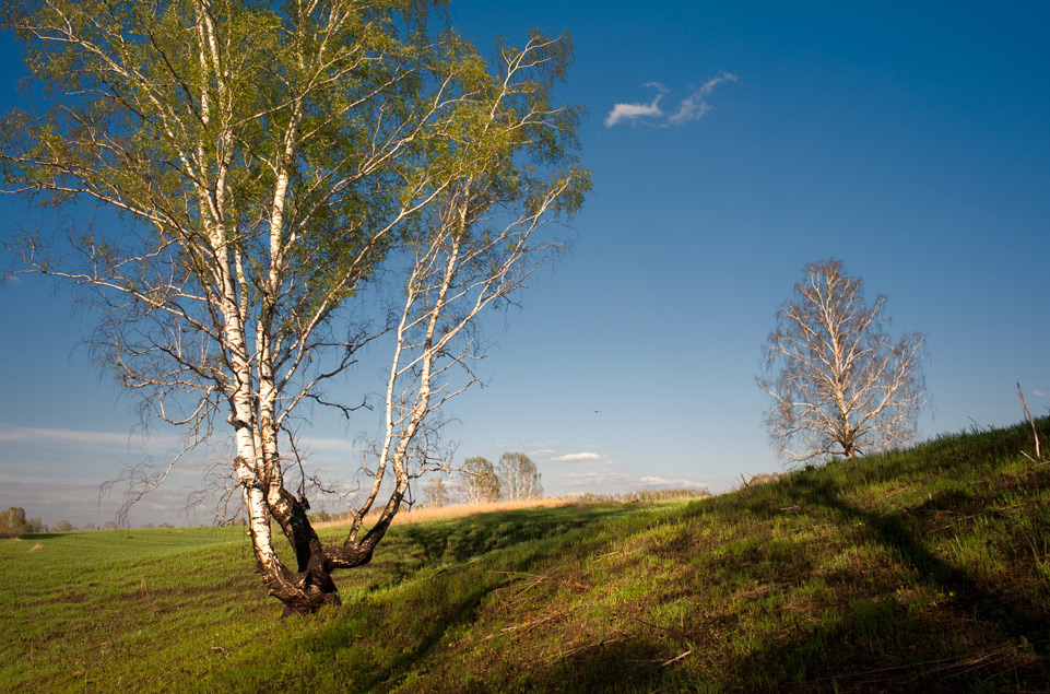
<path fill-rule="evenodd" d="M 321 660 L 343 660 L 346 670 L 363 675 L 347 691 L 388 690 L 448 649 L 449 632 L 475 622 L 485 600 L 508 576 L 557 557 L 580 537 L 580 528 L 610 515 L 615 514 L 595 511 L 581 520 L 579 509 L 530 509 L 402 527 L 386 551 L 415 558 L 404 566 L 390 560 L 382 568 L 381 585 L 391 592 L 377 600 L 364 595 L 347 599 L 303 648 Z M 418 578 L 421 568 L 430 573 Z M 448 682 L 427 682 L 424 689 L 459 691 Z"/>

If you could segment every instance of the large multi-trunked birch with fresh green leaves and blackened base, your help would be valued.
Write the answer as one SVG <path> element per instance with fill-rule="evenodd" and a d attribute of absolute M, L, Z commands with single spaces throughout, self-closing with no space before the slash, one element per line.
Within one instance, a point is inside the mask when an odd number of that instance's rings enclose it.
<path fill-rule="evenodd" d="M 429 423 L 474 381 L 477 319 L 523 286 L 554 247 L 536 231 L 589 188 L 578 110 L 551 99 L 567 38 L 533 33 L 486 60 L 439 0 L 2 12 L 46 105 L 2 123 L 4 190 L 120 220 L 27 234 L 16 270 L 83 287 L 98 353 L 187 447 L 228 427 L 269 592 L 299 614 L 339 602 L 332 572 L 371 558 L 439 463 Z M 400 297 L 393 318 L 364 299 L 380 284 Z M 390 350 L 382 431 L 347 536 L 326 544 L 291 422 L 308 403 L 351 414 L 363 393 L 346 375 L 370 343 Z"/>

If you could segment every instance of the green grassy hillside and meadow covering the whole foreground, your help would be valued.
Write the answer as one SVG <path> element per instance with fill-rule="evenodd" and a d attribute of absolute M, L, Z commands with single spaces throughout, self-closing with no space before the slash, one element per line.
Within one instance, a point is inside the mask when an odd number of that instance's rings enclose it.
<path fill-rule="evenodd" d="M 4 540 L 0 690 L 1048 691 L 1031 448 L 1025 425 L 688 504 L 404 525 L 341 609 L 284 622 L 241 529 Z"/>

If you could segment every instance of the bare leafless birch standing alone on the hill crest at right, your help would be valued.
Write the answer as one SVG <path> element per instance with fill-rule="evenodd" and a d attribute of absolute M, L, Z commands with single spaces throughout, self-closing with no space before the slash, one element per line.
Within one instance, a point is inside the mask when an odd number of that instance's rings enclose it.
<path fill-rule="evenodd" d="M 803 268 L 766 344 L 770 378 L 757 379 L 772 397 L 765 421 L 782 457 L 856 458 L 915 436 L 925 341 L 887 334 L 885 304 L 882 295 L 868 304 L 839 260 Z"/>

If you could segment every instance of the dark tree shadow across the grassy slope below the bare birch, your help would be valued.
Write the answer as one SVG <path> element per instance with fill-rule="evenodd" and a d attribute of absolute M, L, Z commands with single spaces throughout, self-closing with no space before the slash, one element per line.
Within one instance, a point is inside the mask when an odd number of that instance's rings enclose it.
<path fill-rule="evenodd" d="M 934 554 L 921 541 L 915 517 L 850 504 L 821 471 L 795 477 L 780 492 L 768 498 L 756 494 L 743 504 L 769 518 L 783 513 L 784 499 L 810 513 L 826 508 L 839 524 L 863 529 L 918 584 L 945 599 L 917 611 L 892 591 L 864 595 L 865 588 L 841 585 L 837 595 L 846 602 L 837 610 L 839 619 L 782 634 L 735 663 L 736 681 L 751 678 L 753 686 L 763 689 L 755 677 L 764 673 L 779 691 L 1048 691 L 1047 605 L 1020 591 L 989 586 Z M 955 513 L 983 507 L 966 494 L 942 496 L 944 505 L 961 505 Z"/>

